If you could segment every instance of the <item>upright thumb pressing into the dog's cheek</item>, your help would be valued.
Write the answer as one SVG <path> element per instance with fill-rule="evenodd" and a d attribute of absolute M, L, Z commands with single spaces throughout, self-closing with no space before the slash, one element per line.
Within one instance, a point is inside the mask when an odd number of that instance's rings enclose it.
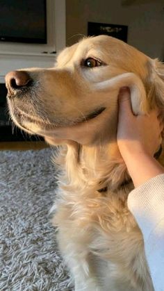
<path fill-rule="evenodd" d="M 118 103 L 119 103 L 119 115 L 131 116 L 133 112 L 131 110 L 131 94 L 130 90 L 127 87 L 121 88 L 118 95 Z"/>

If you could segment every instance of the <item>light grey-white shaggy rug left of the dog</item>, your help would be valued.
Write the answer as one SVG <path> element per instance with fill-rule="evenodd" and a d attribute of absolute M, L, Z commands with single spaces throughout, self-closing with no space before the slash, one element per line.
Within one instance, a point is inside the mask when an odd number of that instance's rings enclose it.
<path fill-rule="evenodd" d="M 51 149 L 0 151 L 0 290 L 66 291 L 49 209 L 55 197 Z"/>

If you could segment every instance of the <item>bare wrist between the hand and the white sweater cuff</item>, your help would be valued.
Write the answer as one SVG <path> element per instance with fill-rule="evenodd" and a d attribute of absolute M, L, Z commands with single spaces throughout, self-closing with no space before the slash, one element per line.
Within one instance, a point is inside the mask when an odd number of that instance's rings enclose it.
<path fill-rule="evenodd" d="M 126 152 L 124 161 L 135 188 L 150 178 L 164 173 L 163 167 L 155 158 L 144 151 L 138 151 L 137 153 L 133 151 Z"/>

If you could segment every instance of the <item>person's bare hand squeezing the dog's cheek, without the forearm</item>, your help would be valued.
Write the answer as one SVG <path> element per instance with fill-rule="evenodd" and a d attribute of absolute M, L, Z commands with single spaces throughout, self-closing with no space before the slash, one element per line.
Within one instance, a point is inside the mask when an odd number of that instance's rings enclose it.
<path fill-rule="evenodd" d="M 151 110 L 147 115 L 133 115 L 128 88 L 120 90 L 118 101 L 117 145 L 125 163 L 129 154 L 136 157 L 140 156 L 140 153 L 154 156 L 162 142 L 163 130 L 157 110 Z"/>

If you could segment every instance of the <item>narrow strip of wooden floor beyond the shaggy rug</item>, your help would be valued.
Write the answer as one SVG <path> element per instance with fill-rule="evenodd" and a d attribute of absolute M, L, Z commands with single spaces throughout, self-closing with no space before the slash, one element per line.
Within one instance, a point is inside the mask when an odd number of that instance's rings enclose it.
<path fill-rule="evenodd" d="M 45 142 L 0 142 L 0 151 L 26 151 L 49 147 Z"/>

